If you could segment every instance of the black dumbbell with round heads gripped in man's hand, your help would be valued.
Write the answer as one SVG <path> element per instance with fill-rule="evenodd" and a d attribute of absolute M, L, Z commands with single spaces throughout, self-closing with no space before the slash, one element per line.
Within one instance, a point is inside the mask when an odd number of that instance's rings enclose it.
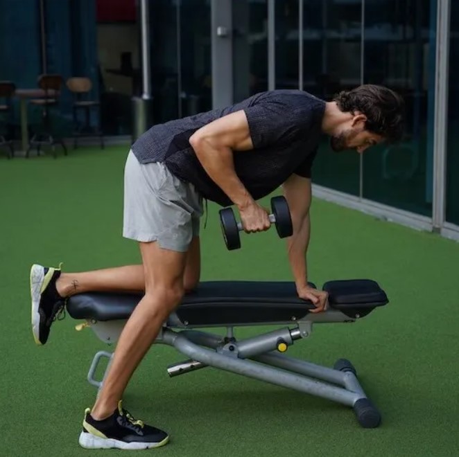
<path fill-rule="evenodd" d="M 271 199 L 272 214 L 269 215 L 271 224 L 275 224 L 279 238 L 286 238 L 293 233 L 292 219 L 290 210 L 285 197 L 278 195 Z M 243 231 L 241 222 L 236 222 L 232 208 L 223 208 L 220 210 L 220 222 L 223 232 L 223 238 L 229 251 L 241 247 L 241 237 L 239 232 Z"/>

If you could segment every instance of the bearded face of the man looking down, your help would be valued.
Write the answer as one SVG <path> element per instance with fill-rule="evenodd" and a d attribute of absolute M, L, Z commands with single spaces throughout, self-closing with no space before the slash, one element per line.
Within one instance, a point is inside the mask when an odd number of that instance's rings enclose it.
<path fill-rule="evenodd" d="M 362 115 L 356 116 L 349 125 L 330 138 L 330 146 L 334 152 L 345 150 L 356 150 L 359 154 L 368 147 L 379 144 L 384 138 L 378 134 L 365 130 L 366 118 Z"/>

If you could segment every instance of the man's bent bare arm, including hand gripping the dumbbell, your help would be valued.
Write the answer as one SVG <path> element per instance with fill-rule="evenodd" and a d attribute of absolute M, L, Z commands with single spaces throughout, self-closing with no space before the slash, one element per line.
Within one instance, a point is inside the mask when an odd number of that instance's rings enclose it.
<path fill-rule="evenodd" d="M 236 111 L 201 127 L 189 143 L 209 177 L 238 207 L 245 230 L 267 230 L 266 210 L 254 201 L 234 170 L 233 151 L 253 149 L 245 112 Z"/>

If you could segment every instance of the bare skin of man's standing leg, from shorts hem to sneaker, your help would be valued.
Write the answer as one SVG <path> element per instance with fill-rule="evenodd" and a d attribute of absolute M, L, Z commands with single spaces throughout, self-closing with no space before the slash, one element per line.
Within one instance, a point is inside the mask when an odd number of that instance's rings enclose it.
<path fill-rule="evenodd" d="M 103 388 L 91 411 L 94 420 L 112 415 L 132 373 L 157 337 L 167 316 L 184 294 L 186 253 L 140 243 L 144 262 L 145 295 L 126 323 Z"/>

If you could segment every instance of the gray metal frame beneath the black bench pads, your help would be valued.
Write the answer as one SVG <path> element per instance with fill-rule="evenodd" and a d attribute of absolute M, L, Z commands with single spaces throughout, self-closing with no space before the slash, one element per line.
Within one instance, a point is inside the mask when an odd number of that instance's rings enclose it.
<path fill-rule="evenodd" d="M 295 391 L 308 393 L 354 409 L 362 427 L 373 428 L 379 425 L 381 415 L 367 399 L 356 370 L 352 364 L 340 359 L 334 368 L 327 368 L 308 361 L 288 357 L 277 350 L 279 341 L 290 346 L 295 340 L 305 339 L 312 332 L 315 323 L 352 323 L 356 319 L 342 312 L 329 309 L 320 314 L 308 313 L 302 320 L 295 322 L 256 323 L 246 325 L 211 325 L 212 328 L 226 328 L 225 337 L 202 332 L 210 326 L 187 325 L 171 314 L 168 323 L 159 333 L 155 343 L 173 346 L 178 352 L 188 357 L 186 361 L 168 367 L 168 374 L 173 377 L 193 370 L 211 366 L 260 381 L 275 384 Z M 115 343 L 123 330 L 125 320 L 94 321 L 87 319 L 101 341 Z M 266 332 L 256 337 L 237 341 L 234 327 L 254 325 L 282 325 L 279 330 Z M 95 379 L 98 364 L 103 358 L 108 359 L 107 368 L 101 381 Z M 99 351 L 94 355 L 87 379 L 100 391 L 112 360 L 112 352 Z"/>

